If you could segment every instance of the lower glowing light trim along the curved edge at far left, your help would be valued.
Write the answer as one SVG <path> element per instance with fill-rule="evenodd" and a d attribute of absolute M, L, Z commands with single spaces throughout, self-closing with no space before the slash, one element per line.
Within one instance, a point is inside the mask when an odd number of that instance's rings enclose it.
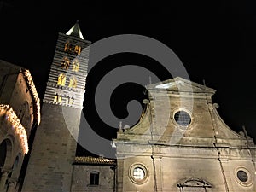
<path fill-rule="evenodd" d="M 20 144 L 22 146 L 24 154 L 28 152 L 28 143 L 27 135 L 25 128 L 20 124 L 20 119 L 17 117 L 13 108 L 10 108 L 9 105 L 0 104 L 0 115 L 5 115 L 6 119 L 12 125 L 12 128 L 15 130 L 15 135 L 20 137 Z"/>

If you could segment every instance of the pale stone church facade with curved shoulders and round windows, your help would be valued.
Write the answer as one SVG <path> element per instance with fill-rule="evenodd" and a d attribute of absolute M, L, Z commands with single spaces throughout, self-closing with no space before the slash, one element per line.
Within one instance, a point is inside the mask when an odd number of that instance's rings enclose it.
<path fill-rule="evenodd" d="M 113 140 L 118 192 L 255 191 L 253 139 L 225 125 L 215 90 L 182 78 L 147 89 L 143 118 Z"/>

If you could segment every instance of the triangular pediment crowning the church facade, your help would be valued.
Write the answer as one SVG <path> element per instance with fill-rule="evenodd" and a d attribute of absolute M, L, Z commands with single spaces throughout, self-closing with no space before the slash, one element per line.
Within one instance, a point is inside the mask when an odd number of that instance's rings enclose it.
<path fill-rule="evenodd" d="M 203 84 L 198 84 L 188 79 L 183 79 L 181 77 L 167 79 L 156 84 L 148 84 L 146 88 L 148 90 L 169 90 L 177 92 L 208 93 L 211 95 L 213 95 L 216 91 Z"/>

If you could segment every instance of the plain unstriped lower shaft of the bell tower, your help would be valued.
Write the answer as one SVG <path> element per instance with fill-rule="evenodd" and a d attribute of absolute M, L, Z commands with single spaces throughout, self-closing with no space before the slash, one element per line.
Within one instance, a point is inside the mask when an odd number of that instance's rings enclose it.
<path fill-rule="evenodd" d="M 70 191 L 77 144 L 70 131 L 79 130 L 80 115 L 80 109 L 43 104 L 22 191 Z"/>

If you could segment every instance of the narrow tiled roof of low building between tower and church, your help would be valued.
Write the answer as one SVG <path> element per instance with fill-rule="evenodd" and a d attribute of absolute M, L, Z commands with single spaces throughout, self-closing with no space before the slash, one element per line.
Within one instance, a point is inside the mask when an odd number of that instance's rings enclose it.
<path fill-rule="evenodd" d="M 77 164 L 93 164 L 93 165 L 116 165 L 116 160 L 107 159 L 103 157 L 79 156 L 75 157 Z"/>

